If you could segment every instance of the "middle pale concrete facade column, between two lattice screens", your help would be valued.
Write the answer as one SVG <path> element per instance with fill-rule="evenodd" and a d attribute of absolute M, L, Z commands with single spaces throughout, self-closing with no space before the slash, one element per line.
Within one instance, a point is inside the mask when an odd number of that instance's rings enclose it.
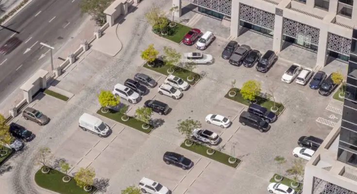
<path fill-rule="evenodd" d="M 282 36 L 284 28 L 283 10 L 275 8 L 274 36 L 272 42 L 272 50 L 279 53 L 282 48 Z"/>

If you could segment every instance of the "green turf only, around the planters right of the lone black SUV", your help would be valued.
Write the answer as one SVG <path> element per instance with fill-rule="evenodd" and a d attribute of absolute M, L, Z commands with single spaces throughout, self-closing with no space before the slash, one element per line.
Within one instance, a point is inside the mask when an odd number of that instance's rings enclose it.
<path fill-rule="evenodd" d="M 181 144 L 182 148 L 185 148 L 187 150 L 190 150 L 192 152 L 200 154 L 200 155 L 202 155 L 204 157 L 207 157 L 209 159 L 212 159 L 214 161 L 221 162 L 221 163 L 223 163 L 225 165 L 228 165 L 228 166 L 231 166 L 233 168 L 236 168 L 238 166 L 238 164 L 241 162 L 241 160 L 237 159 L 237 162 L 231 164 L 231 163 L 228 162 L 228 159 L 231 156 L 229 156 L 227 154 L 224 154 L 224 153 L 222 153 L 222 152 L 220 152 L 218 150 L 215 150 L 215 153 L 213 155 L 208 155 L 206 151 L 210 147 L 207 147 L 207 146 L 204 146 L 204 145 L 201 145 L 201 144 L 198 144 L 198 143 L 193 143 L 192 146 L 188 147 L 188 146 L 185 145 L 185 141 L 184 141 L 184 143 Z"/>

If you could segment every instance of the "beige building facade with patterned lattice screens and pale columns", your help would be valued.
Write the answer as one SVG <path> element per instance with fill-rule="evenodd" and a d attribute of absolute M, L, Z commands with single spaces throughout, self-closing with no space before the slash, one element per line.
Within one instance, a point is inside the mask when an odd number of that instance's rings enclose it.
<path fill-rule="evenodd" d="M 317 52 L 316 64 L 328 56 L 349 60 L 352 29 L 357 24 L 357 0 L 187 0 L 198 11 L 230 20 L 230 33 L 238 37 L 242 26 L 273 38 L 272 50 L 284 41 Z M 181 0 L 176 16 L 181 16 Z"/>

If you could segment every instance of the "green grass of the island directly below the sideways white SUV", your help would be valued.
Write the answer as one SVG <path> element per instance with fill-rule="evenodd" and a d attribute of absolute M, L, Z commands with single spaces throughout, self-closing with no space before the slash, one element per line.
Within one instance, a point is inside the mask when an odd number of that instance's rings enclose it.
<path fill-rule="evenodd" d="M 145 68 L 151 69 L 153 71 L 156 71 L 158 73 L 161 73 L 165 76 L 168 76 L 168 69 L 170 68 L 169 66 L 165 65 L 165 64 L 158 64 L 158 65 L 154 65 L 153 67 L 145 64 L 144 65 Z M 181 79 L 183 79 L 184 81 L 187 81 L 187 77 L 190 75 L 190 71 L 188 71 L 187 69 L 184 69 L 182 67 L 176 66 L 175 68 L 175 72 L 173 72 L 174 76 L 177 76 Z M 193 77 L 195 78 L 193 81 L 189 82 L 187 81 L 190 85 L 195 85 L 197 81 L 199 81 L 201 79 L 201 76 L 197 73 L 192 72 Z"/>

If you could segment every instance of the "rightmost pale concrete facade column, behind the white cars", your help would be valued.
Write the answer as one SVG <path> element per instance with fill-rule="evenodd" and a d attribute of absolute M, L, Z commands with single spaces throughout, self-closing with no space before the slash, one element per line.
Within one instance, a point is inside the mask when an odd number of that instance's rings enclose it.
<path fill-rule="evenodd" d="M 326 64 L 326 52 L 327 52 L 327 42 L 328 42 L 328 32 L 327 27 L 320 29 L 319 38 L 319 49 L 317 50 L 317 61 L 316 66 L 323 67 Z"/>

